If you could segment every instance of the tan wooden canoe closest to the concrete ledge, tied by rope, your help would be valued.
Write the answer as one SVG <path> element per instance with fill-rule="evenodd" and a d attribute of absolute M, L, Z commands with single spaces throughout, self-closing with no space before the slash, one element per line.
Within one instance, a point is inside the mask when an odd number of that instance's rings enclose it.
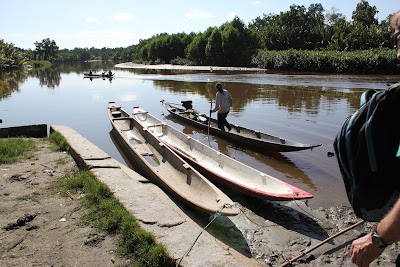
<path fill-rule="evenodd" d="M 150 181 L 202 212 L 239 214 L 228 196 L 115 102 L 108 103 L 108 115 L 116 139 Z"/>

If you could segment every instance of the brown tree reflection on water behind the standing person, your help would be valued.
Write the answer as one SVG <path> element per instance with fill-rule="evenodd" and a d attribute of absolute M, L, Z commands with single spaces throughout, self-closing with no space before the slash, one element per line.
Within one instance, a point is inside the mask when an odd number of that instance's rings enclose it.
<path fill-rule="evenodd" d="M 173 80 L 153 81 L 160 90 L 173 91 L 175 93 L 195 93 L 203 95 L 208 100 L 214 100 L 216 90 L 211 82 L 181 82 Z M 287 86 L 287 85 L 260 85 L 237 82 L 224 82 L 224 87 L 232 95 L 232 110 L 240 111 L 249 103 L 260 101 L 275 102 L 277 106 L 285 107 L 288 112 L 300 112 L 312 114 L 322 101 L 335 103 L 347 99 L 352 108 L 359 108 L 360 92 L 341 92 L 337 90 L 323 90 L 318 86 Z"/>

